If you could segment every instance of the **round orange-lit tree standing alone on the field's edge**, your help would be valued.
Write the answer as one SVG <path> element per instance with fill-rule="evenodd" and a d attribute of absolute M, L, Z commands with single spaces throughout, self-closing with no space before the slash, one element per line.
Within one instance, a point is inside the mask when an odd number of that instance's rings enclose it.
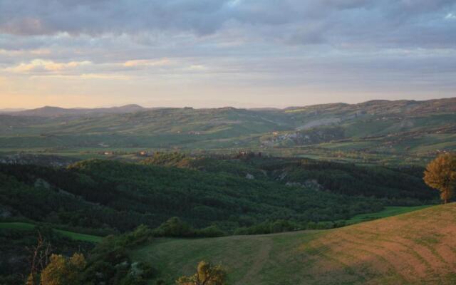
<path fill-rule="evenodd" d="M 446 153 L 432 160 L 425 170 L 425 183 L 440 190 L 440 198 L 446 204 L 456 187 L 456 155 Z"/>

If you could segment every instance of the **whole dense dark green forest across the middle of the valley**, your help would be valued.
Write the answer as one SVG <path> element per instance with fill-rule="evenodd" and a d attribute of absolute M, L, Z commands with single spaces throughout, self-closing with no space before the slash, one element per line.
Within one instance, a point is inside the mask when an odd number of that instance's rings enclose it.
<path fill-rule="evenodd" d="M 336 221 L 386 205 L 430 203 L 437 193 L 419 173 L 314 160 L 166 154 L 140 164 L 0 165 L 0 195 L 11 217 L 71 227 L 123 232 L 180 217 L 195 228 L 215 225 L 232 232 L 266 221 Z"/>

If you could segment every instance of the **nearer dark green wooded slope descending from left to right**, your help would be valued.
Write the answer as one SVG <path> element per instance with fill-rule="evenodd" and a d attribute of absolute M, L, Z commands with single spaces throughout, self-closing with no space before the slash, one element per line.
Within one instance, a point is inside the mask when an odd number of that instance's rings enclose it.
<path fill-rule="evenodd" d="M 281 219 L 305 228 L 309 222 L 349 219 L 384 206 L 427 202 L 425 189 L 421 200 L 405 190 L 398 199 L 377 199 L 224 172 L 109 160 L 69 168 L 0 164 L 0 179 L 0 211 L 6 217 L 120 232 L 140 224 L 157 227 L 170 217 L 227 232 Z"/>

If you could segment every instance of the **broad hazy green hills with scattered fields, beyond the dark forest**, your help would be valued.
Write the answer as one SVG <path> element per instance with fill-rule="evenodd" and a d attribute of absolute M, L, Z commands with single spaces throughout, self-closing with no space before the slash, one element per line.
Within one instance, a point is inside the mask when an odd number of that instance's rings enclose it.
<path fill-rule="evenodd" d="M 0 116 L 0 152 L 255 150 L 361 163 L 423 165 L 456 149 L 456 98 L 279 109 L 41 108 Z"/>

